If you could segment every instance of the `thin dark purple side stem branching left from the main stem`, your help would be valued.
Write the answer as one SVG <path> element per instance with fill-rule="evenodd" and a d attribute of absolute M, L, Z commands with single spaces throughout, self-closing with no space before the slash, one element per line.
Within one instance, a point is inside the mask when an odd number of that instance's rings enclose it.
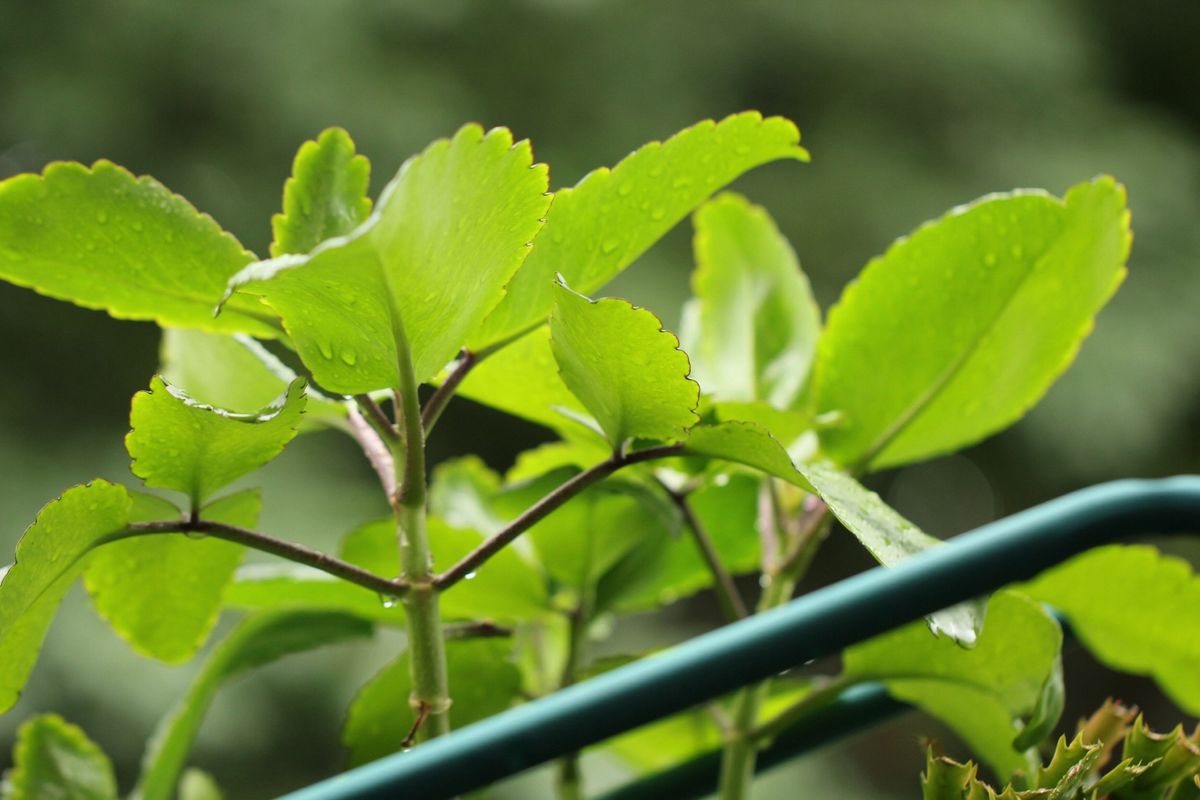
<path fill-rule="evenodd" d="M 238 528 L 236 525 L 227 525 L 208 519 L 163 519 L 161 522 L 133 523 L 125 530 L 108 537 L 106 542 L 156 534 L 204 534 L 205 536 L 236 542 L 256 551 L 271 553 L 289 561 L 311 566 L 314 570 L 328 572 L 335 578 L 341 578 L 364 589 L 377 591 L 380 595 L 400 597 L 408 591 L 408 583 L 406 581 L 382 578 L 373 572 L 348 564 L 326 553 L 311 549 L 304 545 L 275 539 L 257 530 L 247 530 L 246 528 Z"/>

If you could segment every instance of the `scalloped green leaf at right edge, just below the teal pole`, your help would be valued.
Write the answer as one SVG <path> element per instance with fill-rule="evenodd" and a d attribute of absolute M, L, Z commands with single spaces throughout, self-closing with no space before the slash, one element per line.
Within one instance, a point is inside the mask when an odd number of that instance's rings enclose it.
<path fill-rule="evenodd" d="M 1021 588 L 1055 607 L 1104 664 L 1150 675 L 1200 715 L 1200 578 L 1148 546 L 1099 547 Z"/>

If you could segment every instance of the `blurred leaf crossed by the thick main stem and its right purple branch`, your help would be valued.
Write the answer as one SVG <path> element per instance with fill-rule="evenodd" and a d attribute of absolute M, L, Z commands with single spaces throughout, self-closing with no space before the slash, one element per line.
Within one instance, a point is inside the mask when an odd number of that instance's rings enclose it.
<path fill-rule="evenodd" d="M 445 570 L 478 547 L 484 536 L 474 530 L 452 528 L 437 517 L 427 519 L 433 566 Z M 376 575 L 400 573 L 396 521 L 367 523 L 346 536 L 342 558 Z M 445 619 L 488 619 L 516 622 L 546 614 L 550 602 L 538 571 L 512 547 L 506 547 L 481 566 L 476 575 L 440 595 Z"/>

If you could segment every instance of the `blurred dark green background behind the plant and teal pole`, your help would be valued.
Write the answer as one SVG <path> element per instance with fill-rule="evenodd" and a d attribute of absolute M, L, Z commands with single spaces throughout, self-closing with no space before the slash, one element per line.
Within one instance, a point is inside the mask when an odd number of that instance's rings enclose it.
<path fill-rule="evenodd" d="M 868 258 L 949 206 L 1111 173 L 1129 187 L 1130 273 L 1070 372 L 1003 435 L 877 481 L 948 536 L 1082 485 L 1200 469 L 1198 31 L 1189 0 L 0 0 L 0 178 L 110 158 L 265 253 L 292 155 L 325 126 L 352 132 L 379 187 L 464 121 L 506 125 L 534 142 L 557 187 L 700 119 L 756 108 L 796 120 L 814 161 L 768 166 L 736 188 L 776 216 L 828 306 Z M 690 260 L 684 225 L 610 294 L 673 325 Z M 0 285 L 0 552 L 67 486 L 127 475 L 128 398 L 156 347 L 151 325 Z M 461 402 L 436 457 L 474 451 L 504 468 L 544 437 Z M 263 527 L 314 546 L 383 509 L 335 434 L 296 441 L 259 482 Z M 834 541 L 816 583 L 865 566 Z M 605 646 L 680 639 L 714 619 L 700 599 L 618 624 Z M 230 688 L 194 762 L 233 799 L 335 771 L 355 682 L 395 644 L 295 658 Z M 1079 652 L 1067 670 L 1068 720 L 1118 692 L 1156 724 L 1174 722 L 1145 681 Z M 0 718 L 0 765 L 22 718 L 56 710 L 113 754 L 127 787 L 192 672 L 133 655 L 77 593 Z M 953 742 L 911 716 L 781 770 L 762 796 L 796 796 L 798 781 L 814 798 L 913 796 L 918 733 Z M 620 776 L 593 766 L 596 784 Z M 524 778 L 505 796 L 545 786 Z"/>

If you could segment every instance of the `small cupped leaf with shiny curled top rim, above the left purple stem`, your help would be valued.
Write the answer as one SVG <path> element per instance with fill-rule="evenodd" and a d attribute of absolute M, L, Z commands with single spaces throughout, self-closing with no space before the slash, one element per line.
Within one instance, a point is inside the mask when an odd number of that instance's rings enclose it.
<path fill-rule="evenodd" d="M 146 486 L 175 489 L 199 505 L 212 492 L 278 456 L 305 409 L 304 380 L 259 414 L 204 405 L 156 375 L 133 396 L 125 447 Z"/>

